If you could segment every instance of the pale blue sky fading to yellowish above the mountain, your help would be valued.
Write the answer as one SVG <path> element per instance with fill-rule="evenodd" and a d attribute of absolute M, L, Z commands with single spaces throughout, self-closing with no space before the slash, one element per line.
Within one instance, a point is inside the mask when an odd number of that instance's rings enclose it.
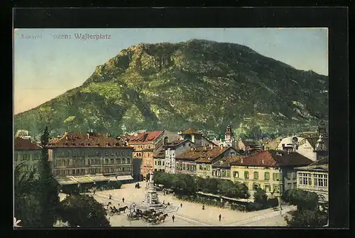
<path fill-rule="evenodd" d="M 109 37 L 77 39 L 85 33 Z M 82 85 L 97 65 L 131 45 L 194 38 L 246 45 L 296 69 L 328 75 L 327 28 L 21 28 L 13 35 L 14 113 Z"/>

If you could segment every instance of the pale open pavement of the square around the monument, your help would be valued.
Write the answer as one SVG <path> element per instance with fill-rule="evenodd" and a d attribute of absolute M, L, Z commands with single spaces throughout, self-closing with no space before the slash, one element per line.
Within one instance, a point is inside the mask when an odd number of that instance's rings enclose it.
<path fill-rule="evenodd" d="M 124 184 L 121 189 L 116 190 L 104 190 L 97 191 L 94 198 L 107 205 L 111 202 L 116 207 L 130 206 L 132 202 L 136 204 L 142 202 L 145 196 L 145 184 L 140 183 L 141 188 L 134 188 L 135 183 Z M 111 200 L 109 200 L 109 194 L 111 194 Z M 92 195 L 92 194 L 91 194 Z M 273 209 L 260 210 L 256 212 L 239 212 L 219 207 L 212 207 L 204 205 L 202 210 L 202 204 L 185 202 L 178 200 L 173 195 L 163 195 L 158 192 L 160 202 L 168 203 L 178 206 L 176 212 L 168 212 L 165 222 L 160 222 L 159 225 L 151 225 L 143 220 L 127 220 L 126 214 L 129 210 L 121 215 L 109 216 L 109 220 L 112 227 L 121 226 L 133 226 L 133 227 L 185 227 L 185 226 L 285 226 L 284 215 L 290 210 L 295 210 L 295 206 L 283 206 L 282 215 L 280 211 L 274 211 Z M 122 202 L 124 198 L 124 202 Z M 182 204 L 182 207 L 180 207 Z M 219 221 L 219 214 L 222 215 L 222 220 Z M 175 222 L 172 220 L 172 216 L 175 216 Z"/>

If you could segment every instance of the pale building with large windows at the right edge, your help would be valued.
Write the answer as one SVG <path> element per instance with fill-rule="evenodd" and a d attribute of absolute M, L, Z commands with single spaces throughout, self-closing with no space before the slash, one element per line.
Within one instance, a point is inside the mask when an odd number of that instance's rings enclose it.
<path fill-rule="evenodd" d="M 309 166 L 296 168 L 297 188 L 318 194 L 320 202 L 327 202 L 328 197 L 328 157 L 311 163 Z"/>

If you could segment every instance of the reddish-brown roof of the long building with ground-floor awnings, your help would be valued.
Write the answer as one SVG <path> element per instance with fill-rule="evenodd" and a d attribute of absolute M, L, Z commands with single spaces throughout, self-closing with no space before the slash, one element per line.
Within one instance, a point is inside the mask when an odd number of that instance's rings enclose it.
<path fill-rule="evenodd" d="M 100 133 L 65 133 L 60 139 L 53 139 L 48 148 L 65 147 L 127 147 L 120 140 Z"/>

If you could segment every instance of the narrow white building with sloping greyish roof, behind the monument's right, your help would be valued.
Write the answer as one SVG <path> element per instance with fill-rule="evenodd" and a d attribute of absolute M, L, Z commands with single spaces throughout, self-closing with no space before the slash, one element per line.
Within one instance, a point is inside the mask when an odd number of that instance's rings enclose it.
<path fill-rule="evenodd" d="M 175 156 L 195 148 L 195 144 L 189 140 L 178 140 L 168 143 L 165 148 L 165 173 L 176 173 Z"/>

